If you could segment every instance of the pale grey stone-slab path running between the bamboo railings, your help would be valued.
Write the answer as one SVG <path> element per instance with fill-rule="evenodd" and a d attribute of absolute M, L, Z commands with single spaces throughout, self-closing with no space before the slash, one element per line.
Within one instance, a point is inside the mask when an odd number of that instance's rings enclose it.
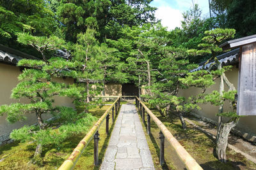
<path fill-rule="evenodd" d="M 100 169 L 155 169 L 134 104 L 123 104 Z"/>

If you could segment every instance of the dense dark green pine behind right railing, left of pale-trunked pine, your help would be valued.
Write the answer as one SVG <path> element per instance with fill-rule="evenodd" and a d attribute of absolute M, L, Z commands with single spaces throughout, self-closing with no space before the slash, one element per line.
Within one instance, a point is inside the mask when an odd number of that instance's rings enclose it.
<path fill-rule="evenodd" d="M 190 99 L 178 97 L 177 94 L 180 89 L 188 88 L 188 85 L 185 85 L 180 78 L 197 65 L 189 64 L 186 58 L 188 56 L 186 49 L 165 46 L 162 50 L 163 59 L 160 60 L 158 67 L 161 76 L 159 76 L 159 81 L 150 87 L 152 94 L 147 96 L 148 103 L 156 106 L 162 116 L 164 116 L 164 112 L 166 116 L 170 116 L 170 111 L 178 113 L 182 128 L 186 129 L 183 114 L 198 108 L 198 106 Z"/>

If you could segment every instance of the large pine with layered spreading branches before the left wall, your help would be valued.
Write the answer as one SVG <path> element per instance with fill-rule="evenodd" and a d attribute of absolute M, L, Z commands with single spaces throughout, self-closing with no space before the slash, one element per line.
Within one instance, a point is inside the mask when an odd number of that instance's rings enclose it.
<path fill-rule="evenodd" d="M 70 68 L 77 64 L 60 57 L 52 57 L 52 52 L 65 45 L 65 41 L 55 36 L 36 37 L 19 34 L 19 43 L 29 45 L 42 54 L 42 60 L 20 60 L 18 66 L 25 67 L 19 75 L 20 82 L 12 90 L 13 99 L 26 98 L 30 103 L 13 103 L 0 107 L 0 113 L 7 114 L 8 122 L 26 119 L 26 114 L 34 114 L 37 125 L 24 125 L 15 129 L 10 137 L 19 141 L 35 141 L 36 161 L 42 153 L 43 146 L 54 144 L 60 146 L 64 139 L 85 131 L 94 118 L 91 115 L 77 114 L 73 108 L 54 106 L 54 96 L 81 97 L 76 85 L 59 83 L 54 78 L 72 76 L 76 71 Z M 50 56 L 50 57 L 49 57 Z M 45 121 L 45 114 L 52 114 L 55 119 Z"/>

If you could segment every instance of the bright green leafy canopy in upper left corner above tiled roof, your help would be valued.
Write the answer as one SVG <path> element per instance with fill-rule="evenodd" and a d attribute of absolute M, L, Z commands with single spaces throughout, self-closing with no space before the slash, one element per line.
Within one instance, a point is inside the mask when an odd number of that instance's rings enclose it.
<path fill-rule="evenodd" d="M 49 35 L 58 24 L 46 1 L 0 1 L 0 43 L 17 38 L 20 32 Z"/>

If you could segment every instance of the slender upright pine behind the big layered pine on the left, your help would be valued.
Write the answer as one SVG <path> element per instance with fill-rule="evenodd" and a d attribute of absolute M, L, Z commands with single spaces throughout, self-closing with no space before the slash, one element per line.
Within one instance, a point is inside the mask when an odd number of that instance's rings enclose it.
<path fill-rule="evenodd" d="M 77 106 L 84 106 L 84 111 L 88 111 L 93 103 L 100 102 L 96 99 L 92 101 L 92 97 L 99 95 L 102 91 L 104 83 L 104 71 L 101 69 L 102 56 L 99 53 L 100 46 L 95 38 L 95 29 L 88 28 L 85 33 L 77 35 L 72 62 L 77 64 L 75 68 L 77 74 L 74 78 L 77 80 L 82 96 L 76 98 L 74 102 Z"/>

